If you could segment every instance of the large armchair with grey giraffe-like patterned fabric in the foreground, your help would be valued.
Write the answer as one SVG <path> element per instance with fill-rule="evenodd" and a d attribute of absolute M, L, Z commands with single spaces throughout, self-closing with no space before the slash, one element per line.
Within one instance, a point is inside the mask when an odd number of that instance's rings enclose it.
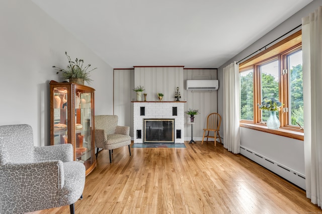
<path fill-rule="evenodd" d="M 82 196 L 85 166 L 71 144 L 34 147 L 29 125 L 0 126 L 0 213 L 70 205 Z"/>

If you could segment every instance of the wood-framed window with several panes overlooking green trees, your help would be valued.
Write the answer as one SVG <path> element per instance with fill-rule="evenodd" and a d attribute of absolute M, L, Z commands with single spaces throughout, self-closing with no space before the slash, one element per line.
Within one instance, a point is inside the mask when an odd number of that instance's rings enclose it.
<path fill-rule="evenodd" d="M 240 126 L 303 140 L 303 81 L 301 31 L 240 63 Z M 263 97 L 283 103 L 281 128 L 268 130 Z"/>

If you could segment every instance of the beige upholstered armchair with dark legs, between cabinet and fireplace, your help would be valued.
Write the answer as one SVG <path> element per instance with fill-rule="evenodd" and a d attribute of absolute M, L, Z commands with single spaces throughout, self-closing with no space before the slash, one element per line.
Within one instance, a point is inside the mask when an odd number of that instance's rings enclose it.
<path fill-rule="evenodd" d="M 116 115 L 97 115 L 95 116 L 95 146 L 97 147 L 96 158 L 99 148 L 108 149 L 110 163 L 112 163 L 113 149 L 128 146 L 131 156 L 131 137 L 130 127 L 118 126 L 118 116 Z"/>

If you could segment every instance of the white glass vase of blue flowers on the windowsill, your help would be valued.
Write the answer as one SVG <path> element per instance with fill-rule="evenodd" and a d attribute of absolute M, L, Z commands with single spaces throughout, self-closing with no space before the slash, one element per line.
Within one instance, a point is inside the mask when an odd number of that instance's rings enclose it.
<path fill-rule="evenodd" d="M 262 104 L 259 106 L 260 110 L 266 110 L 270 112 L 270 117 L 267 119 L 266 126 L 269 129 L 278 129 L 281 126 L 280 121 L 276 116 L 276 112 L 279 112 L 283 104 L 276 98 L 263 98 Z"/>

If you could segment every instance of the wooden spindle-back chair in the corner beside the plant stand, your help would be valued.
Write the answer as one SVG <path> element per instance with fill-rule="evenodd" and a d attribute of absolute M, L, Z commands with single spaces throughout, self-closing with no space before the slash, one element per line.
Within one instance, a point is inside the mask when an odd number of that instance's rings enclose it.
<path fill-rule="evenodd" d="M 208 142 L 208 138 L 214 138 L 215 146 L 216 146 L 217 138 L 219 138 L 219 141 L 221 143 L 221 138 L 219 135 L 220 123 L 221 123 L 221 116 L 218 113 L 211 113 L 210 115 L 208 115 L 207 128 L 203 129 L 203 137 L 202 137 L 201 145 L 203 144 L 203 140 L 205 137 L 207 138 L 206 142 Z M 207 132 L 207 135 L 205 135 L 206 132 Z M 209 135 L 209 132 L 214 132 L 214 135 L 213 136 Z"/>

